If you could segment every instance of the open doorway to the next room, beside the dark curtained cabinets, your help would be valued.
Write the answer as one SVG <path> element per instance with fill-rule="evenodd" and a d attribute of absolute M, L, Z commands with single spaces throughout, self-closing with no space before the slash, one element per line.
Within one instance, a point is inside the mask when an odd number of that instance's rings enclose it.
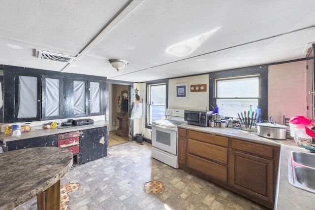
<path fill-rule="evenodd" d="M 133 84 L 109 83 L 109 135 L 108 146 L 132 140 L 130 99 Z"/>

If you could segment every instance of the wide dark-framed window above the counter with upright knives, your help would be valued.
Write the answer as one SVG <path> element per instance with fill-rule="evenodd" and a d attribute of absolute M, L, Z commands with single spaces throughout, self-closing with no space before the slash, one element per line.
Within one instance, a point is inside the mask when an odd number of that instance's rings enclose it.
<path fill-rule="evenodd" d="M 267 74 L 267 66 L 209 73 L 209 104 L 218 105 L 219 114 L 225 118 L 235 119 L 238 118 L 238 113 L 248 112 L 250 105 L 252 111 L 259 105 L 262 119 L 267 119 Z"/>

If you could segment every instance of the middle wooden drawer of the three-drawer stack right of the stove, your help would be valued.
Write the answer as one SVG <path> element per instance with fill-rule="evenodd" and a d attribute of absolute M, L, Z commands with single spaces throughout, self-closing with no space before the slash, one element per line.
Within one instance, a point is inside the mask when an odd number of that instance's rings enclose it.
<path fill-rule="evenodd" d="M 197 140 L 188 140 L 188 152 L 227 165 L 227 148 Z"/>

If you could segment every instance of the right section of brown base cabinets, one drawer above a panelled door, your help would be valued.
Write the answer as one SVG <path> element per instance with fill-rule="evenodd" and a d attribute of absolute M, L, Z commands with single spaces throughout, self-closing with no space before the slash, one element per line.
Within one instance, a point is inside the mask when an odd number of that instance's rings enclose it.
<path fill-rule="evenodd" d="M 280 147 L 231 139 L 229 185 L 236 192 L 273 208 Z"/>

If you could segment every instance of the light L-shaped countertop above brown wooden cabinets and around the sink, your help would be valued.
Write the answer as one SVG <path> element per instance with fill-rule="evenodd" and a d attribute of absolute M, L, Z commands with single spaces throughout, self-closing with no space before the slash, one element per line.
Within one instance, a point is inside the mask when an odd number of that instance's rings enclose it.
<path fill-rule="evenodd" d="M 254 132 L 237 130 L 234 128 L 211 128 L 199 127 L 188 124 L 179 125 L 178 128 L 189 129 L 209 134 L 215 134 L 228 138 L 237 138 L 240 140 L 248 140 L 257 143 L 268 144 L 272 146 L 280 146 L 280 160 L 277 180 L 277 192 L 275 210 L 311 210 L 315 207 L 315 194 L 296 188 L 289 183 L 288 179 L 288 157 L 289 151 L 298 150 L 309 152 L 297 145 L 294 140 L 271 140 L 257 136 Z M 314 177 L 315 178 L 315 177 Z"/>

